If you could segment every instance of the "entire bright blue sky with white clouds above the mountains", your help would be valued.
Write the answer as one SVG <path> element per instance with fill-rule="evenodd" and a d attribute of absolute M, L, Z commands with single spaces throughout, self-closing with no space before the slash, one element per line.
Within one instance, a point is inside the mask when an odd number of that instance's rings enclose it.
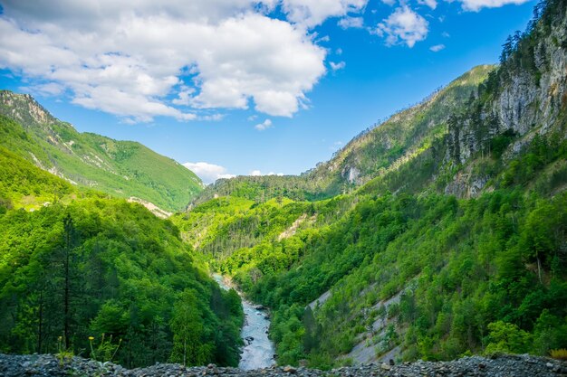
<path fill-rule="evenodd" d="M 0 0 L 0 89 L 207 184 L 301 174 L 524 30 L 526 0 Z"/>

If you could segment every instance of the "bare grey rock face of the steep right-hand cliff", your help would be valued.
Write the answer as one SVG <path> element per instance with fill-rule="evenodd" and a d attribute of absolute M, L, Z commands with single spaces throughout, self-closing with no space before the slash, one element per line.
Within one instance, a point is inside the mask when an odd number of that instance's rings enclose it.
<path fill-rule="evenodd" d="M 506 130 L 523 137 L 533 129 L 546 133 L 556 124 L 567 106 L 567 17 L 553 14 L 551 25 L 540 22 L 533 33 L 537 35 L 537 43 L 530 48 L 533 56 L 523 51 L 524 57 L 513 55 L 510 63 L 504 63 L 495 98 L 478 114 L 467 109 L 464 117 L 449 124 L 446 163 L 466 163 L 486 140 Z M 524 68 L 526 55 L 533 58 L 531 68 Z"/>

